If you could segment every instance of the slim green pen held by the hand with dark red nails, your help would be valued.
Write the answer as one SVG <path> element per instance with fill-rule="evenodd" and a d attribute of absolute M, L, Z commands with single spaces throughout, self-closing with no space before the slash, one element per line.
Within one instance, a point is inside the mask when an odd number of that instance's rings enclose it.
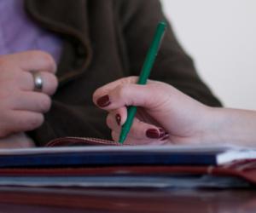
<path fill-rule="evenodd" d="M 140 74 L 137 84 L 146 84 L 147 83 L 149 74 L 154 65 L 154 60 L 156 58 L 157 52 L 160 49 L 160 43 L 161 43 L 162 38 L 164 37 L 165 31 L 166 31 L 166 22 L 160 21 L 160 23 L 158 24 L 156 31 L 154 33 L 153 42 L 151 43 L 151 46 L 148 49 L 148 54 L 144 61 L 143 69 L 142 69 L 142 72 Z M 131 129 L 131 124 L 133 122 L 136 112 L 137 112 L 137 107 L 135 107 L 135 106 L 128 107 L 127 119 L 125 121 L 125 124 L 122 126 L 122 130 L 121 130 L 121 133 L 119 136 L 119 143 L 124 143 L 126 136 L 128 135 L 128 133 Z"/>

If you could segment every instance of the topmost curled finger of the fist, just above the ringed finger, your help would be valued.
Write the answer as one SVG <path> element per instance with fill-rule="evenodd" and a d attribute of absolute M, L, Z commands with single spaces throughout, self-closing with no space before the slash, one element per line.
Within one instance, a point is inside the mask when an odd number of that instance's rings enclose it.
<path fill-rule="evenodd" d="M 44 51 L 32 50 L 13 55 L 5 55 L 3 57 L 10 57 L 12 63 L 19 65 L 24 71 L 56 72 L 55 60 Z"/>

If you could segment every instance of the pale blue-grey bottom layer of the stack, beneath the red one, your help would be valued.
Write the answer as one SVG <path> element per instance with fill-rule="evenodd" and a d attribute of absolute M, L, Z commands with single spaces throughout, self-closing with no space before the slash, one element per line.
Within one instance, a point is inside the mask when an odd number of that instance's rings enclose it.
<path fill-rule="evenodd" d="M 235 177 L 217 176 L 73 176 L 0 177 L 0 186 L 19 187 L 147 187 L 147 188 L 237 188 L 250 187 Z"/>

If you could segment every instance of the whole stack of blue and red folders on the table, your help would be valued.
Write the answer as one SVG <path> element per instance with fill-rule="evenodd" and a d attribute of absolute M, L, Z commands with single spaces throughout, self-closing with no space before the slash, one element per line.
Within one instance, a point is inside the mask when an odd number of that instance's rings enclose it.
<path fill-rule="evenodd" d="M 256 150 L 223 145 L 121 146 L 67 137 L 1 149 L 0 186 L 252 187 Z"/>

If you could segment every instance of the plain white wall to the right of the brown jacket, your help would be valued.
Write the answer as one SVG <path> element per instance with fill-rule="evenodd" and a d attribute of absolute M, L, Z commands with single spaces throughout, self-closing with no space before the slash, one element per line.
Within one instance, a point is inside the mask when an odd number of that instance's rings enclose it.
<path fill-rule="evenodd" d="M 178 40 L 224 106 L 256 110 L 256 1 L 162 3 Z"/>

